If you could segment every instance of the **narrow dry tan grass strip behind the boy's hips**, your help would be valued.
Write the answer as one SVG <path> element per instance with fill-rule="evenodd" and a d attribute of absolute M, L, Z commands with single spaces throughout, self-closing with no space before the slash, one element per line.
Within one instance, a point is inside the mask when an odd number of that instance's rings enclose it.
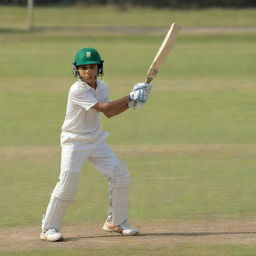
<path fill-rule="evenodd" d="M 178 144 L 178 145 L 110 145 L 120 154 L 227 154 L 227 155 L 254 155 L 255 144 Z M 46 155 L 58 155 L 61 151 L 58 146 L 10 146 L 1 147 L 1 157 L 24 158 Z"/>

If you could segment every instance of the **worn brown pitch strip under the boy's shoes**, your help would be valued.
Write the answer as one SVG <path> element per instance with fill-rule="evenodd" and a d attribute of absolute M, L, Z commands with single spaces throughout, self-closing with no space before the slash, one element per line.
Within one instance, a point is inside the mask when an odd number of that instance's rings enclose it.
<path fill-rule="evenodd" d="M 46 248 L 109 248 L 112 246 L 173 247 L 180 244 L 237 244 L 256 245 L 255 220 L 161 220 L 132 223 L 140 229 L 133 237 L 108 233 L 102 223 L 63 226 L 63 242 L 44 242 L 39 239 L 40 227 L 4 228 L 0 232 L 0 250 Z"/>

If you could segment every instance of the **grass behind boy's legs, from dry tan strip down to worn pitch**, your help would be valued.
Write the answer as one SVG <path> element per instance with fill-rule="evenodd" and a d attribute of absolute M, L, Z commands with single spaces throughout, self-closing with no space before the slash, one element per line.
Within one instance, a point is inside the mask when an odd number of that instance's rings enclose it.
<path fill-rule="evenodd" d="M 254 145 L 155 146 L 153 152 L 150 146 L 138 151 L 124 145 L 116 152 L 132 174 L 133 220 L 239 219 L 255 214 Z M 2 155 L 0 210 L 8 214 L 1 215 L 1 226 L 38 225 L 57 181 L 58 147 L 12 147 L 2 149 Z M 107 191 L 102 175 L 86 164 L 65 223 L 104 219 Z"/>

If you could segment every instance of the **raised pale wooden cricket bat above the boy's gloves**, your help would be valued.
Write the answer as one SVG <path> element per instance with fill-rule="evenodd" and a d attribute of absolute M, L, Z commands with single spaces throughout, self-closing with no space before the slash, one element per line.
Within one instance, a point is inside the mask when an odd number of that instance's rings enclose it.
<path fill-rule="evenodd" d="M 168 53 L 172 49 L 181 27 L 176 23 L 172 23 L 167 32 L 164 41 L 162 42 L 149 70 L 147 73 L 146 83 L 150 83 L 157 75 L 160 67 L 163 65 Z"/>

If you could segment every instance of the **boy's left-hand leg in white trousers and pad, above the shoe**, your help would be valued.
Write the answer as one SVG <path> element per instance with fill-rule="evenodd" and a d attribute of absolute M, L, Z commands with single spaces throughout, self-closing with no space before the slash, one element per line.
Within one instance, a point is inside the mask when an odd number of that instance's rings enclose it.
<path fill-rule="evenodd" d="M 81 167 L 88 152 L 63 147 L 61 152 L 61 172 L 42 220 L 42 231 L 54 229 L 59 232 L 69 204 L 77 189 Z M 42 238 L 44 239 L 44 238 Z M 47 239 L 46 239 L 47 240 Z"/>

